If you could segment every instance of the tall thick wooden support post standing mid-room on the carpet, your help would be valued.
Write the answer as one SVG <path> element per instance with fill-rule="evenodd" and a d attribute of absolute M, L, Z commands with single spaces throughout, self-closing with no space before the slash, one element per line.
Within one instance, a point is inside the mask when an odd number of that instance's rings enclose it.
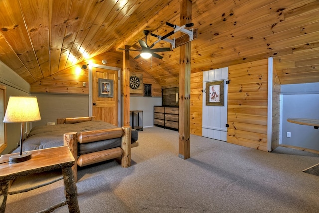
<path fill-rule="evenodd" d="M 180 25 L 191 23 L 190 0 L 180 4 Z M 191 42 L 180 46 L 179 70 L 179 154 L 182 159 L 190 158 L 190 61 Z"/>

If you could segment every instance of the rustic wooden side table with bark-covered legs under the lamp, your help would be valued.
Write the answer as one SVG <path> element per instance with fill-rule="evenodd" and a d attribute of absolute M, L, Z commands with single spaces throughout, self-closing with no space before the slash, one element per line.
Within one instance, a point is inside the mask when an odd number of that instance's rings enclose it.
<path fill-rule="evenodd" d="M 79 213 L 77 200 L 77 187 L 71 167 L 75 160 L 67 146 L 40 149 L 30 151 L 32 158 L 20 163 L 9 162 L 9 156 L 15 154 L 2 155 L 0 157 L 0 212 L 4 213 L 8 195 L 9 184 L 15 178 L 39 172 L 61 169 L 64 179 L 66 201 L 52 206 L 56 209 L 65 204 L 68 205 L 69 212 Z M 2 203 L 1 203 L 2 201 Z M 21 207 L 21 211 L 22 211 Z M 23 211 L 22 211 L 23 212 Z"/>

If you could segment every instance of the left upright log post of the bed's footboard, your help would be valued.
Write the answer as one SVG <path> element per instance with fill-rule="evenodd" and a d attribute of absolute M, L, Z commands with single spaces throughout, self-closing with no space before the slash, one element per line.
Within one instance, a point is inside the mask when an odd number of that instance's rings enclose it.
<path fill-rule="evenodd" d="M 72 166 L 72 171 L 74 175 L 74 181 L 78 181 L 78 141 L 76 132 L 68 132 L 63 135 L 63 144 L 64 146 L 68 146 L 74 159 L 75 163 Z"/>

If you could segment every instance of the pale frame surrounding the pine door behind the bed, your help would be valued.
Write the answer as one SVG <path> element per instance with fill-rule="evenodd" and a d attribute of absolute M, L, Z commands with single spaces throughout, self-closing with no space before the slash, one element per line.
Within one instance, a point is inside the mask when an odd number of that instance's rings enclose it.
<path fill-rule="evenodd" d="M 113 66 L 106 66 L 100 64 L 89 64 L 89 116 L 93 115 L 93 102 L 92 102 L 92 68 L 101 68 L 101 69 L 109 69 L 118 71 L 118 126 L 122 126 L 122 95 L 121 95 L 121 68 L 113 67 Z"/>

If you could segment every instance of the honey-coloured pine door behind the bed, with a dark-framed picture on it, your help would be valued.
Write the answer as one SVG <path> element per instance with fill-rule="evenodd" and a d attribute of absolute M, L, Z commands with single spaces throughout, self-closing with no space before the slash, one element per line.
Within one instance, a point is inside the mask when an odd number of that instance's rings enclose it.
<path fill-rule="evenodd" d="M 110 88 L 113 97 L 99 97 L 103 91 L 103 88 L 99 90 L 102 86 L 99 85 L 99 79 L 113 80 L 113 86 Z M 92 104 L 92 116 L 95 116 L 96 120 L 118 126 L 118 71 L 92 67 Z"/>

